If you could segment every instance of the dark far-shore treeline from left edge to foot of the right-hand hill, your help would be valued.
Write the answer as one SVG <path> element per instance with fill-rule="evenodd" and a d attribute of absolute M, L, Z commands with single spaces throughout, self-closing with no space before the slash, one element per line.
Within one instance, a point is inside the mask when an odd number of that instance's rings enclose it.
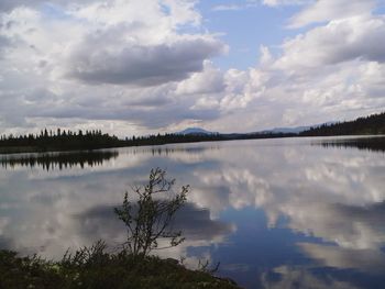
<path fill-rule="evenodd" d="M 40 134 L 1 135 L 0 153 L 31 153 L 56 151 L 82 151 L 122 146 L 163 145 L 173 143 L 215 142 L 230 140 L 253 140 L 295 136 L 283 133 L 253 133 L 253 134 L 157 134 L 132 136 L 120 140 L 114 135 L 98 131 L 57 131 L 43 130 Z"/>

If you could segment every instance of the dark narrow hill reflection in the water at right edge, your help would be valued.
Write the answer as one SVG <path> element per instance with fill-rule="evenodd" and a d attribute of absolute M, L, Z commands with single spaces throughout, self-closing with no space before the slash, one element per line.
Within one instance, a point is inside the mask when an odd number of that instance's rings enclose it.
<path fill-rule="evenodd" d="M 385 137 L 365 137 L 323 141 L 318 143 L 323 147 L 359 148 L 373 152 L 385 152 Z"/>

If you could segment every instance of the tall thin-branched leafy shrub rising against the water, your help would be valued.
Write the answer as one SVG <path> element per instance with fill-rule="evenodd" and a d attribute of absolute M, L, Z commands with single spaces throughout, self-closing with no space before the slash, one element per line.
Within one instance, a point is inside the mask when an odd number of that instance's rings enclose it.
<path fill-rule="evenodd" d="M 116 208 L 116 214 L 128 229 L 124 249 L 133 256 L 144 257 L 151 251 L 160 249 L 160 238 L 169 240 L 167 247 L 177 246 L 184 241 L 182 231 L 173 231 L 170 225 L 176 211 L 186 202 L 189 186 L 183 186 L 179 193 L 169 198 L 174 184 L 175 179 L 166 179 L 165 170 L 152 169 L 148 185 L 134 188 L 134 193 L 139 197 L 138 208 L 129 200 L 128 192 L 122 207 Z M 166 193 L 166 199 L 155 199 L 161 193 Z"/>

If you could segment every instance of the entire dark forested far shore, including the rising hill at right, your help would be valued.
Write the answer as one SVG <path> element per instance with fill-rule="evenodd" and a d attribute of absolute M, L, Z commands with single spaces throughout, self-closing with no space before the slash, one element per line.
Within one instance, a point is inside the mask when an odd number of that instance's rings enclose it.
<path fill-rule="evenodd" d="M 385 112 L 360 118 L 355 121 L 323 124 L 296 133 L 246 133 L 246 134 L 157 134 L 132 136 L 124 140 L 103 134 L 100 130 L 70 131 L 43 130 L 40 134 L 1 135 L 0 154 L 97 149 L 122 146 L 163 145 L 172 143 L 218 142 L 231 140 L 256 140 L 292 136 L 367 135 L 385 134 Z"/>

